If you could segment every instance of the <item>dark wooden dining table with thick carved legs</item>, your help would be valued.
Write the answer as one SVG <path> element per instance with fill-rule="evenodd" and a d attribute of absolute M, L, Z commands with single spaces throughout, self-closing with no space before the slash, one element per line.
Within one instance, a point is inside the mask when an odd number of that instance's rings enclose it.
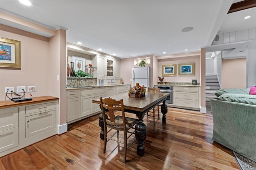
<path fill-rule="evenodd" d="M 160 103 L 161 112 L 162 112 L 162 123 L 166 123 L 166 113 L 168 112 L 168 107 L 165 104 L 166 97 L 170 93 L 162 92 L 147 92 L 144 96 L 141 97 L 129 97 L 128 93 L 122 95 L 109 96 L 112 99 L 120 100 L 123 99 L 124 102 L 124 111 L 128 113 L 134 113 L 138 117 L 138 123 L 135 125 L 135 136 L 138 140 L 137 154 L 143 156 L 145 153 L 144 140 L 146 139 L 146 125 L 143 123 L 144 114 L 147 113 L 150 109 L 156 107 Z M 108 97 L 104 97 L 108 98 Z M 100 99 L 92 100 L 92 103 L 100 104 Z M 104 125 L 102 114 L 99 116 L 99 126 L 101 128 L 100 138 L 104 139 Z"/>

